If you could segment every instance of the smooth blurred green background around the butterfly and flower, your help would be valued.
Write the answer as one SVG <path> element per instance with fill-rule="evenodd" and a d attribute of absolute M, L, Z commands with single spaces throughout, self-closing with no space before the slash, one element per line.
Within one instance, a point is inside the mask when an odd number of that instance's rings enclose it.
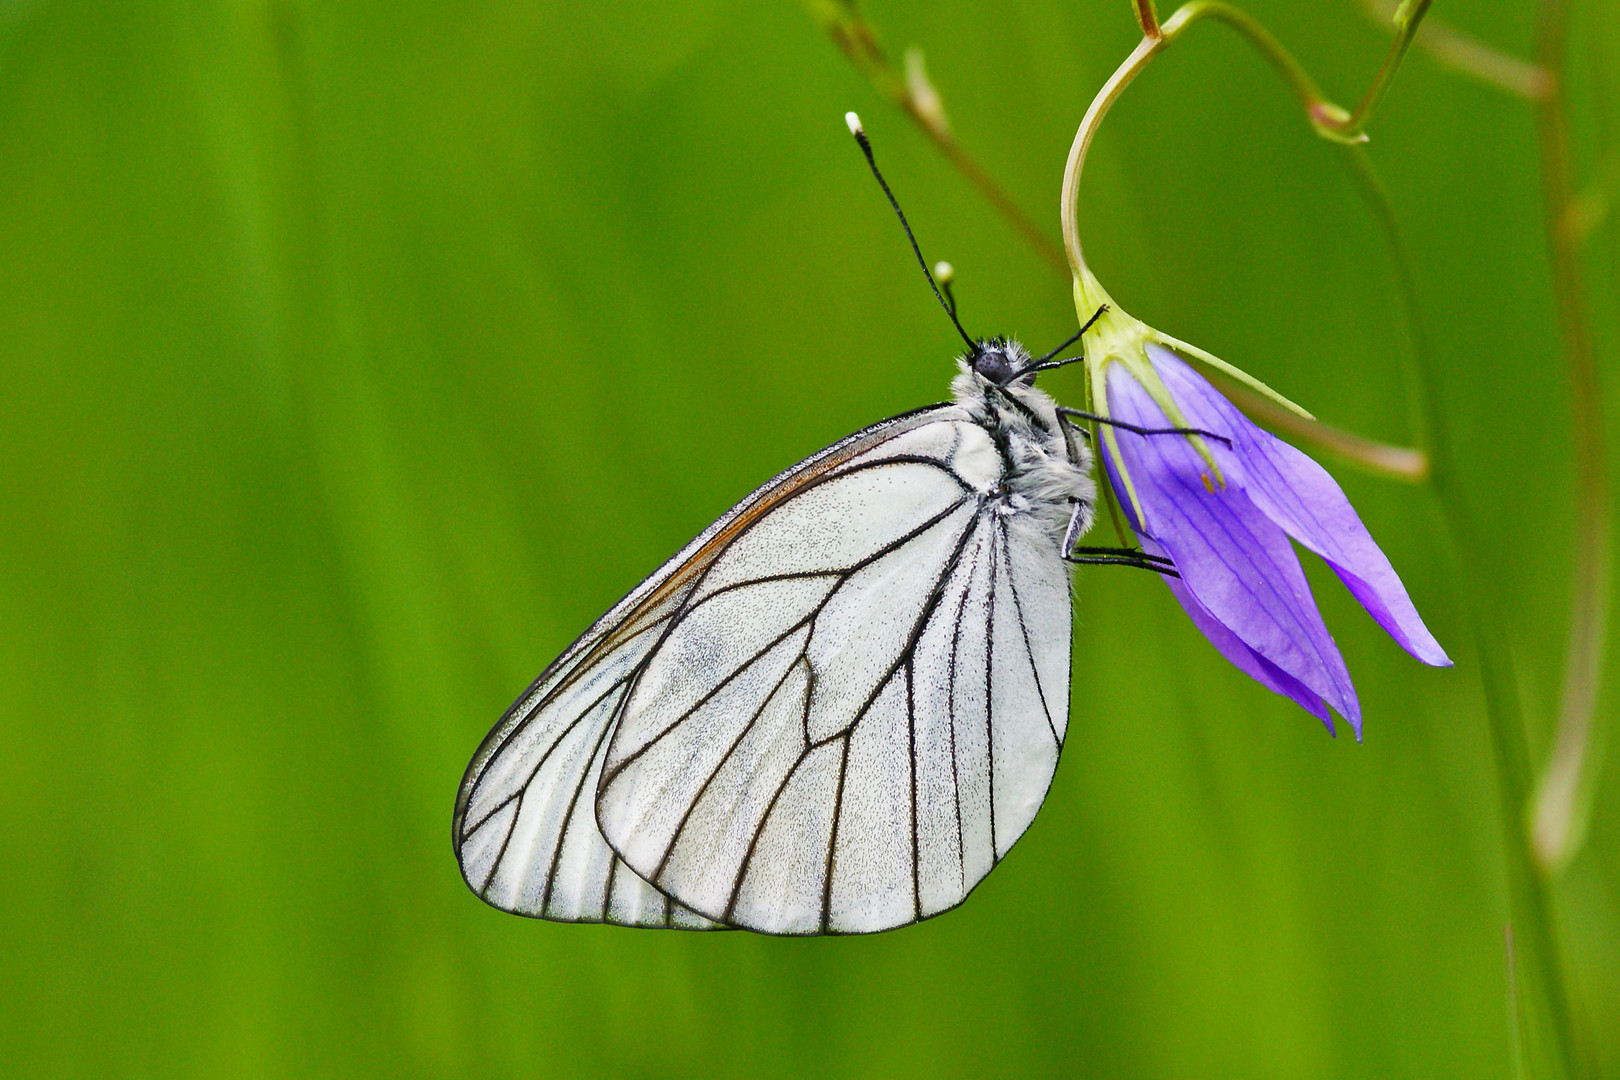
<path fill-rule="evenodd" d="M 1385 37 L 1356 0 L 1247 6 L 1359 97 Z M 1056 235 L 1129 5 L 865 11 Z M 1528 5 L 1435 15 L 1528 52 Z M 1584 170 L 1617 15 L 1576 5 Z M 967 324 L 1068 337 L 1066 282 L 791 2 L 0 0 L 0 1072 L 1513 1074 L 1469 628 L 1430 497 L 1336 465 L 1458 657 L 1419 667 L 1309 567 L 1361 745 L 1149 575 L 1085 568 L 1056 784 L 961 910 L 776 941 L 462 884 L 455 785 L 530 678 L 755 484 L 946 392 L 846 108 Z M 1421 53 L 1372 142 L 1541 755 L 1571 471 L 1534 147 L 1523 100 Z M 1372 219 L 1221 28 L 1116 108 L 1084 230 L 1134 314 L 1409 439 Z M 1617 253 L 1610 223 L 1607 358 Z M 1610 1075 L 1617 840 L 1610 777 L 1555 889 Z"/>

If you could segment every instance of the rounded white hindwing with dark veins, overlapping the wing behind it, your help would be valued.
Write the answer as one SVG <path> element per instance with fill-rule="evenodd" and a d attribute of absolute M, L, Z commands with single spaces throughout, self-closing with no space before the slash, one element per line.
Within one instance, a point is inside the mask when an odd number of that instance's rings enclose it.
<path fill-rule="evenodd" d="M 1058 536 L 940 419 L 776 500 L 622 703 L 603 836 L 718 923 L 865 933 L 956 907 L 1045 798 L 1069 701 Z"/>

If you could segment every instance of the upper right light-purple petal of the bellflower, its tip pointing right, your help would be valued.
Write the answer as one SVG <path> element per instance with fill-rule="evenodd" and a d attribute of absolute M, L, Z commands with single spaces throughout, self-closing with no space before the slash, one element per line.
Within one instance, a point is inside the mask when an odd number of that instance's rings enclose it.
<path fill-rule="evenodd" d="M 1230 470 L 1228 479 L 1283 531 L 1325 559 L 1403 649 L 1424 664 L 1448 667 L 1452 659 L 1429 633 L 1406 586 L 1327 470 L 1254 426 L 1170 350 L 1150 343 L 1147 355 L 1187 423 L 1233 440 L 1230 453 L 1217 452 L 1221 470 Z"/>

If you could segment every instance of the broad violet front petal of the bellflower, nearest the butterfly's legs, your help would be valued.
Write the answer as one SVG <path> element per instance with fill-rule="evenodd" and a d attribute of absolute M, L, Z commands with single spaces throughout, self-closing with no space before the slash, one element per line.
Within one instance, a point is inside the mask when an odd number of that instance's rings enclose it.
<path fill-rule="evenodd" d="M 1119 421 L 1158 429 L 1174 426 L 1121 366 L 1110 371 L 1106 393 L 1110 415 Z M 1210 431 L 1225 434 L 1221 427 L 1225 424 L 1210 426 Z M 1132 513 L 1132 525 L 1174 560 L 1191 597 L 1259 659 L 1343 714 L 1359 737 L 1361 704 L 1349 670 L 1283 529 L 1231 483 L 1233 476 L 1218 486 L 1213 470 L 1187 439 L 1123 429 L 1115 429 L 1113 436 L 1119 461 L 1106 453 L 1108 439 L 1103 439 L 1105 458 L 1116 491 L 1124 491 L 1118 483 L 1121 465 L 1131 478 L 1140 510 L 1140 520 Z M 1233 455 L 1220 450 L 1217 460 L 1225 473 Z M 1220 641 L 1215 644 L 1221 648 Z M 1221 651 L 1231 656 L 1230 649 Z M 1254 665 L 1238 665 L 1254 674 Z M 1275 678 L 1260 682 L 1296 701 L 1304 696 L 1281 688 Z"/>

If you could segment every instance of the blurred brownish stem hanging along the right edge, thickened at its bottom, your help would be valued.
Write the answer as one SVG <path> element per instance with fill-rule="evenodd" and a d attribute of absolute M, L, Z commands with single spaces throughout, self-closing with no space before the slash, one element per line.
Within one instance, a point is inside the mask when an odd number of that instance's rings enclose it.
<path fill-rule="evenodd" d="M 1571 207 L 1576 202 L 1570 164 L 1570 113 L 1565 81 L 1568 3 L 1541 0 L 1536 60 L 1554 73 L 1552 91 L 1536 108 L 1541 146 L 1541 188 L 1552 264 L 1558 337 L 1570 377 L 1570 434 L 1575 444 L 1575 575 L 1570 597 L 1570 644 L 1565 656 L 1558 733 L 1541 777 L 1533 832 L 1542 870 L 1568 863 L 1584 832 L 1584 792 L 1592 742 L 1592 714 L 1602 675 L 1609 617 L 1610 542 L 1609 471 L 1604 436 L 1602 385 L 1592 345 L 1586 287 L 1581 277 L 1581 236 Z"/>

